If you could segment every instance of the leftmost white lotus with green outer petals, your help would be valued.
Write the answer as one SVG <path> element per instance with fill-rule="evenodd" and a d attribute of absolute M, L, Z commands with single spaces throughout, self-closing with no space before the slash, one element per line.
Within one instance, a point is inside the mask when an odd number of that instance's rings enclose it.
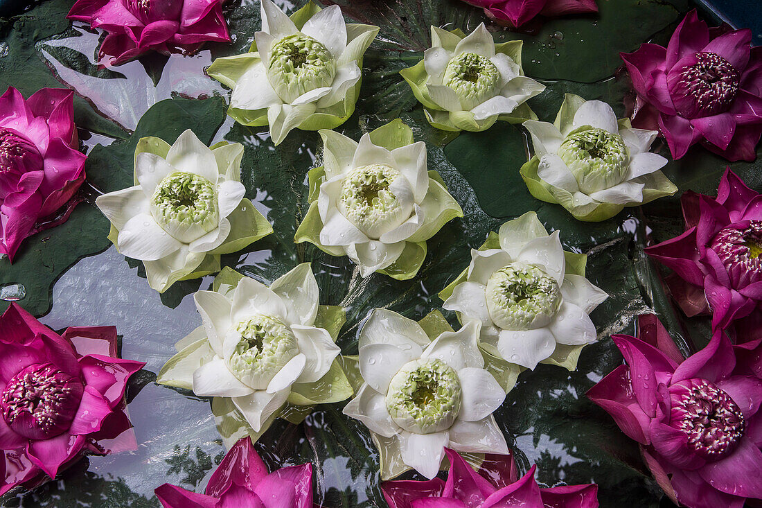
<path fill-rule="evenodd" d="M 210 150 L 191 130 L 172 146 L 143 137 L 135 150 L 136 185 L 95 200 L 111 221 L 109 240 L 143 262 L 156 291 L 218 272 L 220 255 L 273 232 L 243 197 L 242 156 L 241 143 Z"/>

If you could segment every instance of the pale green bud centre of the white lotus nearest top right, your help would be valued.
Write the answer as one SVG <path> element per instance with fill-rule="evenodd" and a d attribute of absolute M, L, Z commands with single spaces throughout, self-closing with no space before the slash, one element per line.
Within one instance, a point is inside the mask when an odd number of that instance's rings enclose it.
<path fill-rule="evenodd" d="M 452 88 L 464 110 L 470 111 L 500 92 L 500 71 L 476 53 L 460 53 L 444 69 L 444 85 Z"/>

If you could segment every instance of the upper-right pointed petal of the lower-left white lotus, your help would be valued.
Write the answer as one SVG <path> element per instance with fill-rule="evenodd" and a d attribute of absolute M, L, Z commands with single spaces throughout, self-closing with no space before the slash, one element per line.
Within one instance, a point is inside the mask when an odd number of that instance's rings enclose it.
<path fill-rule="evenodd" d="M 287 308 L 287 323 L 312 326 L 318 314 L 320 291 L 312 273 L 312 265 L 302 263 L 277 278 L 271 291 L 280 296 Z"/>

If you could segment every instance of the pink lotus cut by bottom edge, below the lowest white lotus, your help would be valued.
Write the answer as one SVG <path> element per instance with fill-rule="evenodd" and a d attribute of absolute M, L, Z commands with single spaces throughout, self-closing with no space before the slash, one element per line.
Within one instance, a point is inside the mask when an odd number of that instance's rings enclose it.
<path fill-rule="evenodd" d="M 536 466 L 517 479 L 512 455 L 487 455 L 482 474 L 463 457 L 444 449 L 450 460 L 447 481 L 387 481 L 381 485 L 389 508 L 597 508 L 597 485 L 568 485 L 541 489 L 534 480 Z"/>

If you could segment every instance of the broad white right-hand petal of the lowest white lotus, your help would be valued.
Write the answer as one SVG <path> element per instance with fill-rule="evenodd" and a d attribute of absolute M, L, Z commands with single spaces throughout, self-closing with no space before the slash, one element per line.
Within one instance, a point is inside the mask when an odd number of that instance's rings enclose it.
<path fill-rule="evenodd" d="M 505 391 L 483 368 L 462 368 L 458 371 L 458 379 L 463 392 L 458 420 L 483 420 L 503 404 Z"/>

